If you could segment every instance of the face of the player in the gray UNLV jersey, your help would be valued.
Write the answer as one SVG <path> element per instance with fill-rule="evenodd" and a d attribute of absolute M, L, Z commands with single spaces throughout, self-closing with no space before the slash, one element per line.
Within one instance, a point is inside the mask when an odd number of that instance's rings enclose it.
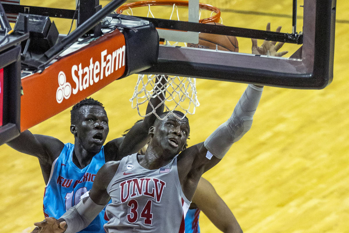
<path fill-rule="evenodd" d="M 155 124 L 152 140 L 161 146 L 162 150 L 176 155 L 182 151 L 190 132 L 187 119 L 178 119 L 173 114 Z"/>

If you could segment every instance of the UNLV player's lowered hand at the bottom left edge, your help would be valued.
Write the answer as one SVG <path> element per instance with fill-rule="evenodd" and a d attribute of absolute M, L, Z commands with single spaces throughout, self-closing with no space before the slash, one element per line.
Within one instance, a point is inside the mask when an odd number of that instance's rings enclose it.
<path fill-rule="evenodd" d="M 67 230 L 65 221 L 60 222 L 53 217 L 46 217 L 43 221 L 34 223 L 36 226 L 30 233 L 63 233 Z"/>

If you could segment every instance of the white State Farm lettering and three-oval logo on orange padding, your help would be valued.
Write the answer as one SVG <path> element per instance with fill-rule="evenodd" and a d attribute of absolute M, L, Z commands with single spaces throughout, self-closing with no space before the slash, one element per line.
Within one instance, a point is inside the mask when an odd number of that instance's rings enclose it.
<path fill-rule="evenodd" d="M 76 95 L 79 91 L 91 87 L 103 77 L 108 77 L 114 71 L 125 66 L 125 53 L 126 47 L 123 45 L 110 54 L 107 53 L 107 50 L 102 51 L 100 60 L 94 61 L 95 58 L 91 57 L 89 64 L 72 64 L 70 68 L 72 76 L 68 78 L 73 80 L 75 87 L 73 82 L 73 87 L 67 82 L 66 74 L 60 71 L 58 74 L 59 87 L 56 92 L 57 103 L 61 103 L 63 99 L 69 99 L 72 93 Z"/>

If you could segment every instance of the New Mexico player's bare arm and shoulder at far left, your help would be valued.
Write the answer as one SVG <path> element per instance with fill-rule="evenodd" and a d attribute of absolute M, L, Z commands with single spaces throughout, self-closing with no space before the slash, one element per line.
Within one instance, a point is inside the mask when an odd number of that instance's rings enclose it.
<path fill-rule="evenodd" d="M 7 145 L 16 151 L 37 157 L 46 184 L 49 181 L 52 163 L 64 147 L 64 143 L 57 138 L 32 134 L 29 130 L 23 131 L 18 137 L 7 142 Z"/>

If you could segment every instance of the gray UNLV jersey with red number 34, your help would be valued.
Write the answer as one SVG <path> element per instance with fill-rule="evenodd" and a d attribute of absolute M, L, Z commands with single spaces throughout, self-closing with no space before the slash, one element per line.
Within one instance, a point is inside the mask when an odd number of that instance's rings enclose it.
<path fill-rule="evenodd" d="M 184 233 L 190 201 L 178 178 L 177 156 L 156 170 L 143 168 L 137 154 L 124 157 L 107 187 L 107 233 Z"/>

